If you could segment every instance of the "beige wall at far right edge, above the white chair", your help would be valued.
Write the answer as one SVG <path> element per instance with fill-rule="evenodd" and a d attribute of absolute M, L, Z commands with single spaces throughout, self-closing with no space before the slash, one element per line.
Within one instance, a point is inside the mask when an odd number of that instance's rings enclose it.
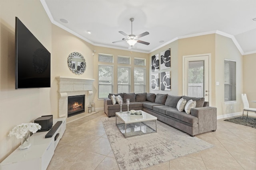
<path fill-rule="evenodd" d="M 256 53 L 244 55 L 243 57 L 243 83 L 244 93 L 246 93 L 250 107 L 256 108 L 256 103 L 251 102 L 256 100 Z"/>

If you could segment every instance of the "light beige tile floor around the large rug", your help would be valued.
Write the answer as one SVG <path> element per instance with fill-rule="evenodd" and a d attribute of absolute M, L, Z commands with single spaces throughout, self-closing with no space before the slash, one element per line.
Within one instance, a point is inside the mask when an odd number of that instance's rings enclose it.
<path fill-rule="evenodd" d="M 47 170 L 119 170 L 100 111 L 66 125 Z M 256 170 L 256 129 L 219 119 L 218 129 L 196 137 L 214 145 L 146 170 Z"/>

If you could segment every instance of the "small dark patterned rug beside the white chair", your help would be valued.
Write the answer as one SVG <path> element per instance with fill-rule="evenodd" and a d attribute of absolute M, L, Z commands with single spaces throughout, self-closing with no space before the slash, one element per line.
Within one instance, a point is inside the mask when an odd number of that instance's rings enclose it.
<path fill-rule="evenodd" d="M 224 121 L 229 121 L 232 123 L 236 123 L 239 125 L 244 125 L 244 126 L 249 126 L 249 127 L 253 127 L 256 128 L 256 117 L 249 117 L 246 119 L 246 116 L 243 117 L 234 117 L 234 118 L 230 118 L 230 119 L 225 119 Z"/>

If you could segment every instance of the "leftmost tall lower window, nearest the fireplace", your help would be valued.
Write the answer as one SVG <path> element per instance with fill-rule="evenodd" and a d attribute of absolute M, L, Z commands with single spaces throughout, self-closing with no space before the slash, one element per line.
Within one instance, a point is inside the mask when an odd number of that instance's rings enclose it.
<path fill-rule="evenodd" d="M 99 96 L 107 98 L 109 93 L 113 93 L 113 66 L 99 65 Z"/>

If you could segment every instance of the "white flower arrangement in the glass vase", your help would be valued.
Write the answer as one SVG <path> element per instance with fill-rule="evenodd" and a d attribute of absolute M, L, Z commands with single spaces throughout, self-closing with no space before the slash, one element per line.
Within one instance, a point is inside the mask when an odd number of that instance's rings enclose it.
<path fill-rule="evenodd" d="M 39 125 L 38 123 L 22 123 L 21 125 L 18 125 L 16 127 L 14 127 L 8 136 L 13 136 L 15 135 L 17 139 L 22 139 L 25 137 L 26 133 L 28 131 L 32 132 L 32 133 L 36 133 L 36 131 L 41 129 L 41 125 Z"/>

